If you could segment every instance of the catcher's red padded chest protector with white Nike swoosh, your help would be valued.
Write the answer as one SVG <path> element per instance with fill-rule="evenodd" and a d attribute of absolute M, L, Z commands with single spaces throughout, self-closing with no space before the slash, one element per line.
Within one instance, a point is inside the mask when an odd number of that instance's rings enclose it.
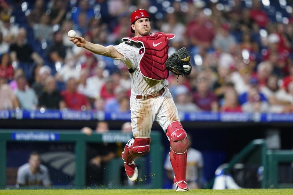
<path fill-rule="evenodd" d="M 153 33 L 143 37 L 124 37 L 124 42 L 136 42 L 143 45 L 143 51 L 139 51 L 143 57 L 139 62 L 140 73 L 149 79 L 165 80 L 169 76 L 166 69 L 168 59 L 169 41 L 175 34 L 163 32 Z"/>

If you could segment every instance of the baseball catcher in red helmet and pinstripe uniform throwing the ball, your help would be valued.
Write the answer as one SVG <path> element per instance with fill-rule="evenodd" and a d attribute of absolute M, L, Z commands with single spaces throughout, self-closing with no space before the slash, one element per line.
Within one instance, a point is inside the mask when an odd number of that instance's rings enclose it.
<path fill-rule="evenodd" d="M 189 191 L 186 181 L 187 133 L 180 123 L 166 81 L 169 76 L 165 66 L 169 40 L 173 39 L 175 34 L 150 33 L 150 21 L 146 10 L 138 9 L 132 12 L 130 30 L 135 33 L 135 37 L 124 37 L 123 42 L 115 46 L 93 44 L 83 37 L 70 40 L 78 47 L 86 48 L 95 54 L 121 60 L 128 68 L 132 86 L 130 110 L 133 138 L 128 141 L 122 152 L 128 179 L 136 181 L 138 177 L 134 160 L 150 151 L 150 130 L 156 119 L 170 141 L 169 157 L 175 173 L 173 181 L 177 187 L 176 191 Z"/>

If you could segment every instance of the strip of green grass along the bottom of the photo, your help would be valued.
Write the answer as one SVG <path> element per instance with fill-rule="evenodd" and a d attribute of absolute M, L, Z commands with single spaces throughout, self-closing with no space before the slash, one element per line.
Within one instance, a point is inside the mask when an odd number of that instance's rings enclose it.
<path fill-rule="evenodd" d="M 176 192 L 175 190 L 0 190 L 1 195 L 293 195 L 293 189 L 241 189 L 241 190 L 190 190 L 189 192 Z"/>

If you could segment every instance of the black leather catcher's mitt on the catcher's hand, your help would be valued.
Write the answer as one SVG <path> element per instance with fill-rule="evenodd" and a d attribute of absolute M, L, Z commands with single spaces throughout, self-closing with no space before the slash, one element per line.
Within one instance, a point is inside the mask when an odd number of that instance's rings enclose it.
<path fill-rule="evenodd" d="M 175 51 L 166 61 L 166 68 L 176 75 L 189 75 L 190 56 L 185 47 Z"/>

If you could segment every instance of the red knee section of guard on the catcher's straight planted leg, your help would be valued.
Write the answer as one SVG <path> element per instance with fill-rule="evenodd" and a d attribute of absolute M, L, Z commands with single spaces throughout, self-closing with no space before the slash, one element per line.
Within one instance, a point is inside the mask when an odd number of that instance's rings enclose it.
<path fill-rule="evenodd" d="M 184 154 L 187 151 L 187 133 L 179 121 L 172 122 L 167 127 L 166 135 L 174 153 Z"/>

